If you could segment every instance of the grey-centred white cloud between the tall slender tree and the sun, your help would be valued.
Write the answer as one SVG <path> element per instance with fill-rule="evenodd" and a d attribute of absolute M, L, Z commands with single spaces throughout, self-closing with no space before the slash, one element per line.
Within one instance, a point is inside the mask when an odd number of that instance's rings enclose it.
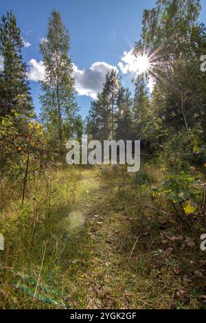
<path fill-rule="evenodd" d="M 91 67 L 85 69 L 78 69 L 76 65 L 73 65 L 73 76 L 78 94 L 97 98 L 97 94 L 102 91 L 105 75 L 111 69 L 117 71 L 117 67 L 105 62 L 93 63 Z"/>

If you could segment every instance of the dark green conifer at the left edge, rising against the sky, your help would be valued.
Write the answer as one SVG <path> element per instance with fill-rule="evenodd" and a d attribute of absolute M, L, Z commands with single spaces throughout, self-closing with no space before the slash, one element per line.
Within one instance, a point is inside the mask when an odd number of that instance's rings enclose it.
<path fill-rule="evenodd" d="M 26 65 L 21 49 L 23 41 L 20 28 L 16 25 L 13 12 L 1 17 L 0 57 L 3 67 L 0 71 L 0 116 L 14 115 L 19 118 L 33 114 L 30 86 L 27 80 Z M 20 124 L 20 122 L 19 122 Z"/>

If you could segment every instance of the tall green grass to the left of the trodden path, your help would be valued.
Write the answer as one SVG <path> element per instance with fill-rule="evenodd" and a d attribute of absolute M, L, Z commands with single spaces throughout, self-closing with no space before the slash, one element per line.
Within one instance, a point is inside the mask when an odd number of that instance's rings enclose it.
<path fill-rule="evenodd" d="M 82 210 L 78 210 L 87 196 L 87 183 L 83 188 L 81 179 L 80 170 L 74 167 L 47 169 L 35 181 L 28 182 L 23 206 L 20 183 L 3 183 L 1 307 L 69 307 L 65 301 L 68 284 L 62 284 L 65 268 L 68 270 L 69 264 L 80 256 L 77 245 L 82 263 L 87 263 L 88 256 L 84 242 L 89 229 L 82 226 Z"/>

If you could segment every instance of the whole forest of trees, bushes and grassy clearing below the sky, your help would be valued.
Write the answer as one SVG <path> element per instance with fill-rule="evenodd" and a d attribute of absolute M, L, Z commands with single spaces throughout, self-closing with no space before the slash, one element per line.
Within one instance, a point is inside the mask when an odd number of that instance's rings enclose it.
<path fill-rule="evenodd" d="M 15 12 L 0 24 L 0 308 L 206 309 L 206 29 L 199 0 L 142 16 L 133 89 L 116 69 L 80 114 L 58 10 L 36 113 Z M 153 89 L 150 91 L 149 82 Z M 69 139 L 140 140 L 141 165 L 68 165 Z"/>

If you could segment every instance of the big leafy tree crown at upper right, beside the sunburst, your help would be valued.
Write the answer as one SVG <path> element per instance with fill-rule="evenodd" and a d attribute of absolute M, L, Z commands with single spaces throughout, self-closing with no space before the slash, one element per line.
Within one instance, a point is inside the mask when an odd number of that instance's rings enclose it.
<path fill-rule="evenodd" d="M 205 126 L 206 75 L 200 57 L 206 50 L 206 34 L 197 21 L 200 8 L 198 0 L 159 0 L 155 8 L 144 11 L 142 41 L 136 50 L 146 47 L 152 55 L 152 101 L 164 129 Z"/>

